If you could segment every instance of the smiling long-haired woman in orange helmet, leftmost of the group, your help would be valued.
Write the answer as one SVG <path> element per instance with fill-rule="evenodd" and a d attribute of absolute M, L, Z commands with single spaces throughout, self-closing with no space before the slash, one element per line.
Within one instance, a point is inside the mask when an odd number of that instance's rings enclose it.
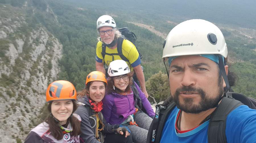
<path fill-rule="evenodd" d="M 77 109 L 77 92 L 69 81 L 54 81 L 46 90 L 50 114 L 28 134 L 25 143 L 80 142 L 81 118 Z"/>

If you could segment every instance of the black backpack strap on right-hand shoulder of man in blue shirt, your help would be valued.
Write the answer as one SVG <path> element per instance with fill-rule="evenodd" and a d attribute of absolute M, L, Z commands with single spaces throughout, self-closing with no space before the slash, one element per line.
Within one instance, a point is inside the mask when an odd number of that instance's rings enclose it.
<path fill-rule="evenodd" d="M 218 107 L 214 110 L 208 127 L 209 143 L 226 143 L 226 118 L 236 107 L 243 105 L 238 100 L 223 97 Z"/>

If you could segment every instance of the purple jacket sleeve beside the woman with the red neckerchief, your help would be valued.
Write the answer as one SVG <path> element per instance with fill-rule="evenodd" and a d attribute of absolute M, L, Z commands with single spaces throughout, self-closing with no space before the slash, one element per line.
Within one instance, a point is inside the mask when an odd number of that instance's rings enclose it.
<path fill-rule="evenodd" d="M 109 119 L 111 117 L 111 110 L 113 106 L 113 101 L 111 100 L 111 95 L 105 95 L 105 97 L 102 99 L 103 103 L 103 109 L 102 109 L 102 114 L 106 120 L 106 123 L 109 123 Z"/>

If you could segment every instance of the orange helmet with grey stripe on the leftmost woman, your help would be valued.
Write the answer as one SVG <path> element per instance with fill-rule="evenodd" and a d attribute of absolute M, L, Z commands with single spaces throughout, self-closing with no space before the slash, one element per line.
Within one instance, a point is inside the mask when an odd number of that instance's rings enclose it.
<path fill-rule="evenodd" d="M 69 81 L 59 80 L 49 84 L 46 90 L 46 101 L 54 100 L 76 100 L 77 91 Z"/>

